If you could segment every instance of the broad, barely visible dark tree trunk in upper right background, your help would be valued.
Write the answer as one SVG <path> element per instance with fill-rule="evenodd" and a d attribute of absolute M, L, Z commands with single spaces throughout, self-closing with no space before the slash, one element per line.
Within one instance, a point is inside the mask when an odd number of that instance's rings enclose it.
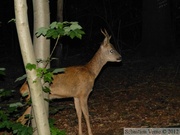
<path fill-rule="evenodd" d="M 142 54 L 159 56 L 173 49 L 169 0 L 143 1 Z"/>

